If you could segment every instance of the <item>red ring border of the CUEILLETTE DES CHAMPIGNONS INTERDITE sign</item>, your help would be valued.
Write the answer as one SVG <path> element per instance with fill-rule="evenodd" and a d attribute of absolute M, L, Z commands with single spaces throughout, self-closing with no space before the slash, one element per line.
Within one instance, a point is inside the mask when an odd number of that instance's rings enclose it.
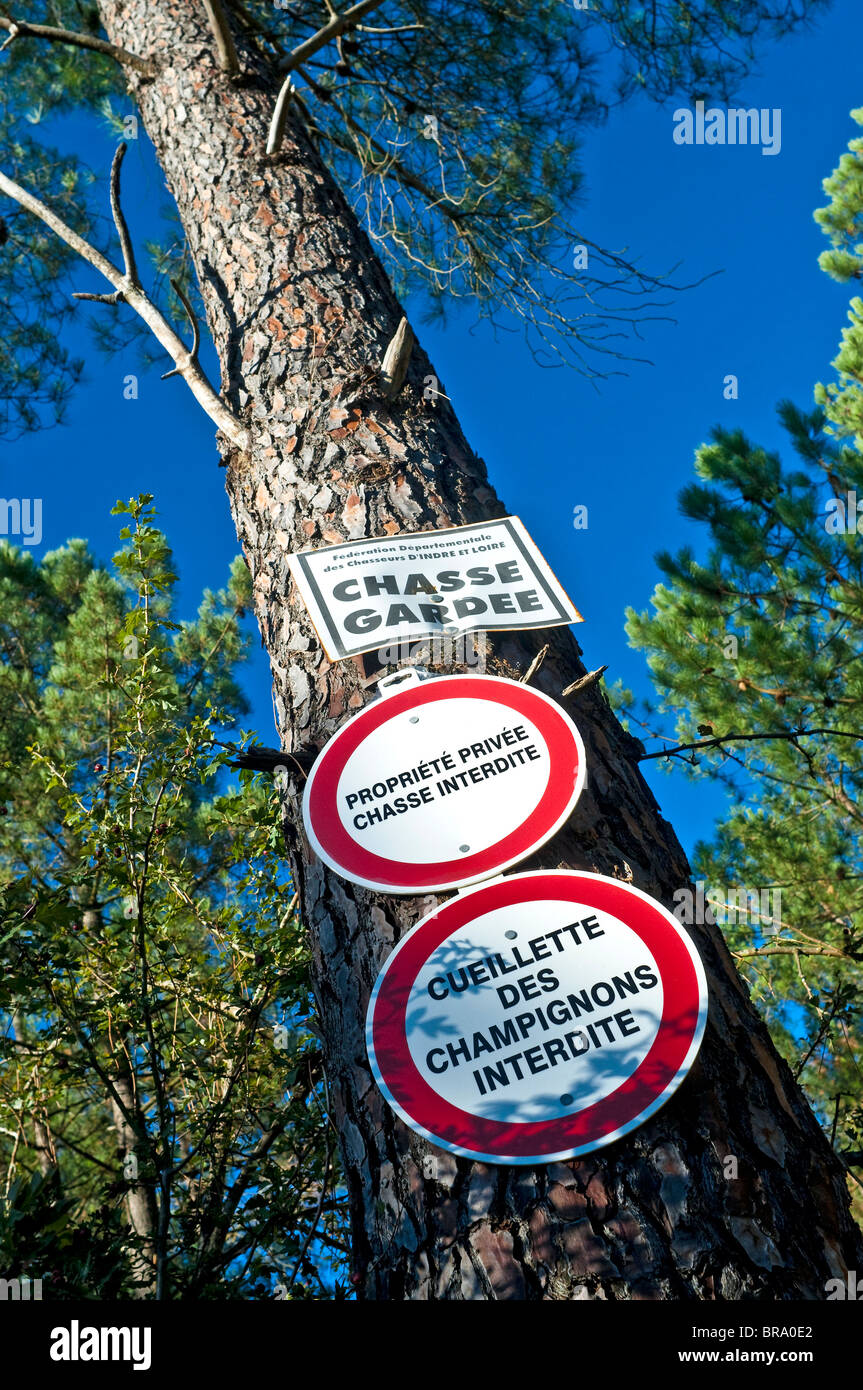
<path fill-rule="evenodd" d="M 443 1099 L 420 1074 L 407 1045 L 410 991 L 429 955 L 459 927 L 485 912 L 517 902 L 561 898 L 610 912 L 635 931 L 656 960 L 663 983 L 663 1016 L 648 1055 L 617 1090 L 575 1115 L 529 1123 L 484 1119 Z M 661 930 L 657 933 L 656 927 Z M 514 874 L 453 898 L 420 923 L 389 958 L 370 1016 L 372 1061 L 395 1102 L 422 1130 L 474 1154 L 535 1156 L 598 1145 L 632 1126 L 678 1074 L 696 1036 L 699 977 L 687 945 L 649 901 L 611 878 L 577 873 Z"/>

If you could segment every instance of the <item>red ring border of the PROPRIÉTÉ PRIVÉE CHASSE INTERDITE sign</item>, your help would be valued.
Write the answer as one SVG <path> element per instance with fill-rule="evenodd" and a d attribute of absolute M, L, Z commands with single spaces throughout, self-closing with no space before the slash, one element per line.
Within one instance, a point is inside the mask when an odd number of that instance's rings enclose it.
<path fill-rule="evenodd" d="M 454 687 L 454 688 L 453 688 Z M 502 689 L 502 687 L 504 687 Z M 345 830 L 342 821 L 334 813 L 336 806 L 336 792 L 339 778 L 347 764 L 347 759 L 359 748 L 364 738 L 368 738 L 381 724 L 406 710 L 418 709 L 422 705 L 442 699 L 486 699 L 498 705 L 509 705 L 517 714 L 529 719 L 539 730 L 546 742 L 550 756 L 549 783 L 534 812 L 523 820 L 516 830 L 503 840 L 489 845 L 475 855 L 459 859 L 445 859 L 432 863 L 404 865 L 396 859 L 386 859 L 364 849 Z M 571 748 L 571 762 L 566 751 L 559 751 L 554 744 L 566 737 Z M 364 709 L 350 720 L 345 728 L 324 748 L 313 773 L 311 785 L 307 792 L 309 823 L 318 844 L 332 859 L 334 865 L 343 869 L 349 877 L 354 874 L 363 880 L 388 887 L 403 888 L 441 888 L 446 884 L 468 883 L 471 878 L 481 878 L 492 874 L 506 865 L 524 859 L 531 851 L 541 845 L 560 816 L 566 812 L 573 799 L 573 790 L 578 778 L 580 769 L 578 744 L 573 737 L 570 720 L 557 706 L 527 685 L 518 685 L 495 676 L 443 676 L 396 695 L 388 695 Z"/>

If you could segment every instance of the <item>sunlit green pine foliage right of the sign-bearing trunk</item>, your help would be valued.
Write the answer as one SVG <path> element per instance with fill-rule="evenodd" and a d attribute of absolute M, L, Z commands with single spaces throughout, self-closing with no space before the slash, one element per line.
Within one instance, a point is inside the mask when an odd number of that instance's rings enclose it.
<path fill-rule="evenodd" d="M 825 182 L 831 204 L 817 214 L 844 256 L 860 252 L 862 143 Z M 821 263 L 835 272 L 831 256 Z M 853 300 L 856 322 L 862 310 Z M 653 612 L 630 612 L 627 624 L 657 699 L 636 714 L 617 692 L 642 731 L 673 721 L 674 737 L 660 735 L 670 764 L 732 795 L 696 849 L 696 874 L 720 901 L 743 885 L 781 892 L 781 920 L 732 917 L 728 944 L 850 1165 L 863 1162 L 863 452 L 850 418 L 860 349 L 846 332 L 841 381 L 817 389 L 813 411 L 780 406 L 787 463 L 739 430 L 717 428 L 698 450 L 700 481 L 680 502 L 710 549 L 657 556 Z"/>

